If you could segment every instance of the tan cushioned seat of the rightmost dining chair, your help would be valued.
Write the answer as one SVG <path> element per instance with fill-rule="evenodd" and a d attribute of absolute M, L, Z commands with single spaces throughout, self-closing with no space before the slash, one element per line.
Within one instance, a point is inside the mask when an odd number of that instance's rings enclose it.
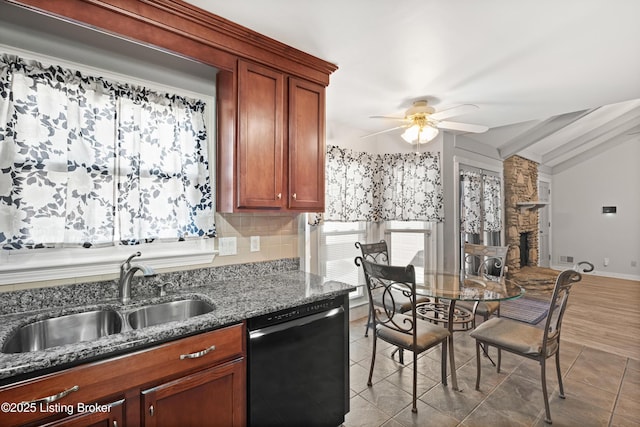
<path fill-rule="evenodd" d="M 483 322 L 469 335 L 507 351 L 536 356 L 541 351 L 544 330 L 515 320 L 494 317 Z"/>

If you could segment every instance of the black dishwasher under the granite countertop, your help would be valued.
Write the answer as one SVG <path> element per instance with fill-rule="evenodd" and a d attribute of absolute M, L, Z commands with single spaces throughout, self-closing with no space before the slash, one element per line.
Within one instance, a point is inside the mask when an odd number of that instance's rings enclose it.
<path fill-rule="evenodd" d="M 349 408 L 346 296 L 249 319 L 253 427 L 337 427 Z"/>

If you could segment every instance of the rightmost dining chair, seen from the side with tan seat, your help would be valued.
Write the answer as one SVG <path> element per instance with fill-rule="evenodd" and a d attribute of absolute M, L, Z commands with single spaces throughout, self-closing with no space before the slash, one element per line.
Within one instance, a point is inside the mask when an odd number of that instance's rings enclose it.
<path fill-rule="evenodd" d="M 571 286 L 582 279 L 581 273 L 593 271 L 593 264 L 582 261 L 573 269 L 562 271 L 553 289 L 549 311 L 544 329 L 534 325 L 494 317 L 483 322 L 470 335 L 476 340 L 476 390 L 480 389 L 480 346 L 492 346 L 498 349 L 497 370 L 500 372 L 501 351 L 537 360 L 540 363 L 540 377 L 542 380 L 542 396 L 544 398 L 545 421 L 551 424 L 551 411 L 549 410 L 549 396 L 547 393 L 546 360 L 555 356 L 560 398 L 564 399 L 564 387 L 562 385 L 562 373 L 560 371 L 560 330 L 562 318 Z"/>

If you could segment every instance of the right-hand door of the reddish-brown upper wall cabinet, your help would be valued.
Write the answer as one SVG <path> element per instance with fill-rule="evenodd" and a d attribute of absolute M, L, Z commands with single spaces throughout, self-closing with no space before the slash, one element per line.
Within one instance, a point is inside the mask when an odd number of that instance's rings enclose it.
<path fill-rule="evenodd" d="M 289 79 L 289 200 L 292 209 L 324 211 L 324 87 Z"/>

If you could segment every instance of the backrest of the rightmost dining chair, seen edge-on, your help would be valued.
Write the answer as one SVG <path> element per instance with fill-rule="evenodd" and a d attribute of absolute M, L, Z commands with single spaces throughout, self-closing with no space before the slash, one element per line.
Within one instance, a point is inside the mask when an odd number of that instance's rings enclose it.
<path fill-rule="evenodd" d="M 555 353 L 560 343 L 560 329 L 562 318 L 567 308 L 571 287 L 582 280 L 581 272 L 593 271 L 593 264 L 582 261 L 574 265 L 570 270 L 562 271 L 557 279 L 549 302 L 549 314 L 544 329 L 542 352 L 546 355 Z"/>

